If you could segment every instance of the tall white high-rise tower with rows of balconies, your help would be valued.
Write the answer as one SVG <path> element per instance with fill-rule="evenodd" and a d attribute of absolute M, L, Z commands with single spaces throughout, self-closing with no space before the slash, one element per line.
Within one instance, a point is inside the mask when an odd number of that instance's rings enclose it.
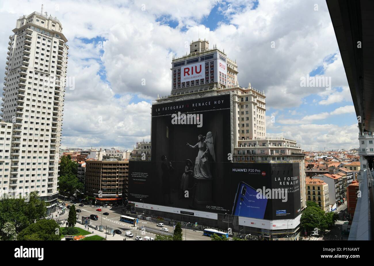
<path fill-rule="evenodd" d="M 10 160 L 6 169 L 12 183 L 4 186 L 4 182 L 10 182 L 3 175 L 1 190 L 16 189 L 20 197 L 37 191 L 49 213 L 58 196 L 58 151 L 69 47 L 61 23 L 47 13 L 21 16 L 9 39 L 1 104 L 6 123 L 1 125 L 12 125 L 12 133 L 6 132 L 11 144 L 4 148 L 3 155 Z"/>

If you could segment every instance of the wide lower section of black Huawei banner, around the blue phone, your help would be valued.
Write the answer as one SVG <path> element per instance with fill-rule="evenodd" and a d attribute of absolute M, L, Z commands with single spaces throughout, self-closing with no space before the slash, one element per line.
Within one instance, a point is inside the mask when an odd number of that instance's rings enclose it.
<path fill-rule="evenodd" d="M 265 220 L 300 214 L 298 163 L 212 163 L 212 180 L 197 179 L 190 168 L 189 162 L 130 161 L 129 200 Z"/>

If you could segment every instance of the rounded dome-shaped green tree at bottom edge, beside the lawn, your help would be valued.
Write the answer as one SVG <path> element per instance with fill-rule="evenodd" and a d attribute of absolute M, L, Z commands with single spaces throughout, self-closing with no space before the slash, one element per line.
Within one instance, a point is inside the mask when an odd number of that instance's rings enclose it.
<path fill-rule="evenodd" d="M 19 234 L 18 240 L 60 240 L 61 232 L 55 220 L 39 220 Z"/>

